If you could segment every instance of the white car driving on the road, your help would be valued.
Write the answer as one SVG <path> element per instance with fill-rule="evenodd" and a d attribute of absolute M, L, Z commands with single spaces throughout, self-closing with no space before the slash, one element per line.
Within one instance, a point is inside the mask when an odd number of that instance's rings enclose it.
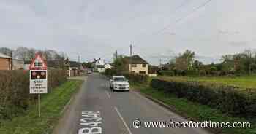
<path fill-rule="evenodd" d="M 127 90 L 129 91 L 129 82 L 124 76 L 113 76 L 110 79 L 110 89 L 116 90 Z"/>

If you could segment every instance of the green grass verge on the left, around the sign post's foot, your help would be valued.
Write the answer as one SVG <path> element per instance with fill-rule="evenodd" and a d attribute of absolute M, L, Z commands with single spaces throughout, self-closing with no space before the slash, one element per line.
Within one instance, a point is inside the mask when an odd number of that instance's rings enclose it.
<path fill-rule="evenodd" d="M 0 126 L 0 134 L 50 134 L 61 117 L 60 112 L 83 81 L 69 80 L 56 87 L 41 101 L 41 117 L 37 106 L 31 106 L 26 115 L 14 117 Z"/>

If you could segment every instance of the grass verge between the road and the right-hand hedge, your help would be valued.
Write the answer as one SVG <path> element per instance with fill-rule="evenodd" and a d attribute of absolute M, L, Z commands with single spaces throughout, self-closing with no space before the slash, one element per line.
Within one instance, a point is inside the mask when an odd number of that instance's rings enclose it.
<path fill-rule="evenodd" d="M 256 133 L 256 120 L 255 119 L 243 119 L 239 117 L 231 117 L 227 114 L 223 114 L 217 109 L 212 109 L 209 106 L 201 105 L 200 103 L 194 103 L 188 101 L 186 98 L 177 98 L 175 95 L 168 94 L 166 92 L 154 90 L 151 87 L 142 84 L 132 85 L 133 89 L 150 95 L 163 103 L 173 107 L 178 114 L 185 117 L 189 117 L 196 122 L 250 122 L 251 128 L 222 128 L 214 129 L 215 133 L 223 134 L 255 134 Z"/>

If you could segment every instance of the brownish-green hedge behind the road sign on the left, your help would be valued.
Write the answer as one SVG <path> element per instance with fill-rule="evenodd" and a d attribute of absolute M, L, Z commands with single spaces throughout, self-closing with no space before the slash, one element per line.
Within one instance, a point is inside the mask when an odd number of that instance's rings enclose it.
<path fill-rule="evenodd" d="M 29 71 L 0 71 L 0 121 L 23 113 L 37 99 L 29 94 Z M 48 70 L 48 92 L 65 82 L 66 72 Z"/>

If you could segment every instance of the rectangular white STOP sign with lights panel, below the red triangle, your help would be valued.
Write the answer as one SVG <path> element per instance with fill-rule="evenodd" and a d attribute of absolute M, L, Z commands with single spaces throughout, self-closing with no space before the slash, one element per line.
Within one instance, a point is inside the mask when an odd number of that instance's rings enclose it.
<path fill-rule="evenodd" d="M 30 71 L 30 93 L 47 93 L 47 70 Z"/>

